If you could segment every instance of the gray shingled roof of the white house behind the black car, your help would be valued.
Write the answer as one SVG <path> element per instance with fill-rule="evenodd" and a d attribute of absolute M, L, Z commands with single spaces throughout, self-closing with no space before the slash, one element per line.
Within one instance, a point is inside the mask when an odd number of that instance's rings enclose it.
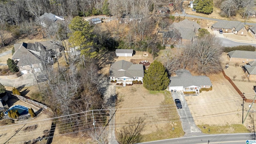
<path fill-rule="evenodd" d="M 207 76 L 172 76 L 169 86 L 212 86 L 212 82 Z"/>

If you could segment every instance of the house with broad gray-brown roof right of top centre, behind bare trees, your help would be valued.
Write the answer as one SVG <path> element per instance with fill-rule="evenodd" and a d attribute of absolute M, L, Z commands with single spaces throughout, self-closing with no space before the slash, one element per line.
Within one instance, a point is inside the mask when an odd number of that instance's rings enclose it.
<path fill-rule="evenodd" d="M 180 32 L 182 43 L 190 44 L 190 42 L 192 42 L 192 40 L 196 36 L 196 33 L 198 32 L 200 25 L 195 21 L 185 19 L 180 22 L 174 22 L 170 26 L 170 30 L 172 28 L 175 28 L 176 30 L 178 30 L 178 32 Z"/>

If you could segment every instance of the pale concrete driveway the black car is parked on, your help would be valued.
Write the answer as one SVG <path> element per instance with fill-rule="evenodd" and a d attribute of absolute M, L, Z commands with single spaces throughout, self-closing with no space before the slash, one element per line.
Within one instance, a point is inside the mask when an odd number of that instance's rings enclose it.
<path fill-rule="evenodd" d="M 177 109 L 177 111 L 180 116 L 183 131 L 185 133 L 201 132 L 200 128 L 198 128 L 194 122 L 194 119 L 188 108 L 188 104 L 185 100 L 183 92 L 177 91 L 177 92 L 171 92 L 171 93 L 172 93 L 173 100 L 178 98 L 180 99 L 182 104 L 182 109 Z"/>

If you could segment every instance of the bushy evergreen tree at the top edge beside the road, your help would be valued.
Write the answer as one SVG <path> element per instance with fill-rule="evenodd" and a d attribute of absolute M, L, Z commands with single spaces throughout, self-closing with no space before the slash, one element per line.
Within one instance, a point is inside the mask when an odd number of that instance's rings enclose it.
<path fill-rule="evenodd" d="M 193 2 L 196 12 L 211 14 L 213 12 L 213 0 L 195 0 Z"/>

